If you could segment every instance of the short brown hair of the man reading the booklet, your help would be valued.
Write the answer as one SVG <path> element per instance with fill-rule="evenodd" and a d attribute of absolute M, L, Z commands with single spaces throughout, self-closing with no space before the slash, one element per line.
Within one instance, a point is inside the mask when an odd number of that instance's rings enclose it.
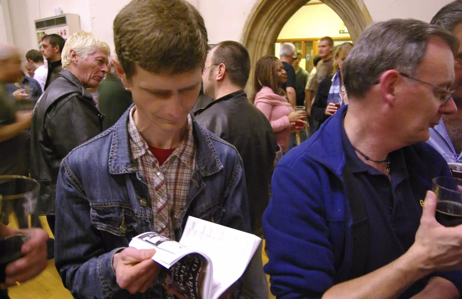
<path fill-rule="evenodd" d="M 116 53 L 128 80 L 135 64 L 171 74 L 201 68 L 207 42 L 204 19 L 184 0 L 132 0 L 114 19 Z"/>

